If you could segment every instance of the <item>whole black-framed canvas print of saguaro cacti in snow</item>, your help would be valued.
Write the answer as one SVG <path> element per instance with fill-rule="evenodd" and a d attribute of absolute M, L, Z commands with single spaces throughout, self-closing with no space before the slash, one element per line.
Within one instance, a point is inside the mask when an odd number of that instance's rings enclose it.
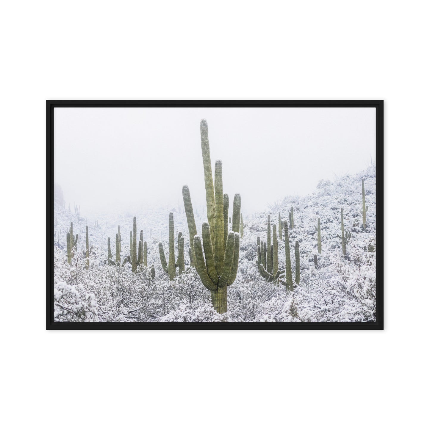
<path fill-rule="evenodd" d="M 383 329 L 383 167 L 381 100 L 48 100 L 46 327 Z"/>

